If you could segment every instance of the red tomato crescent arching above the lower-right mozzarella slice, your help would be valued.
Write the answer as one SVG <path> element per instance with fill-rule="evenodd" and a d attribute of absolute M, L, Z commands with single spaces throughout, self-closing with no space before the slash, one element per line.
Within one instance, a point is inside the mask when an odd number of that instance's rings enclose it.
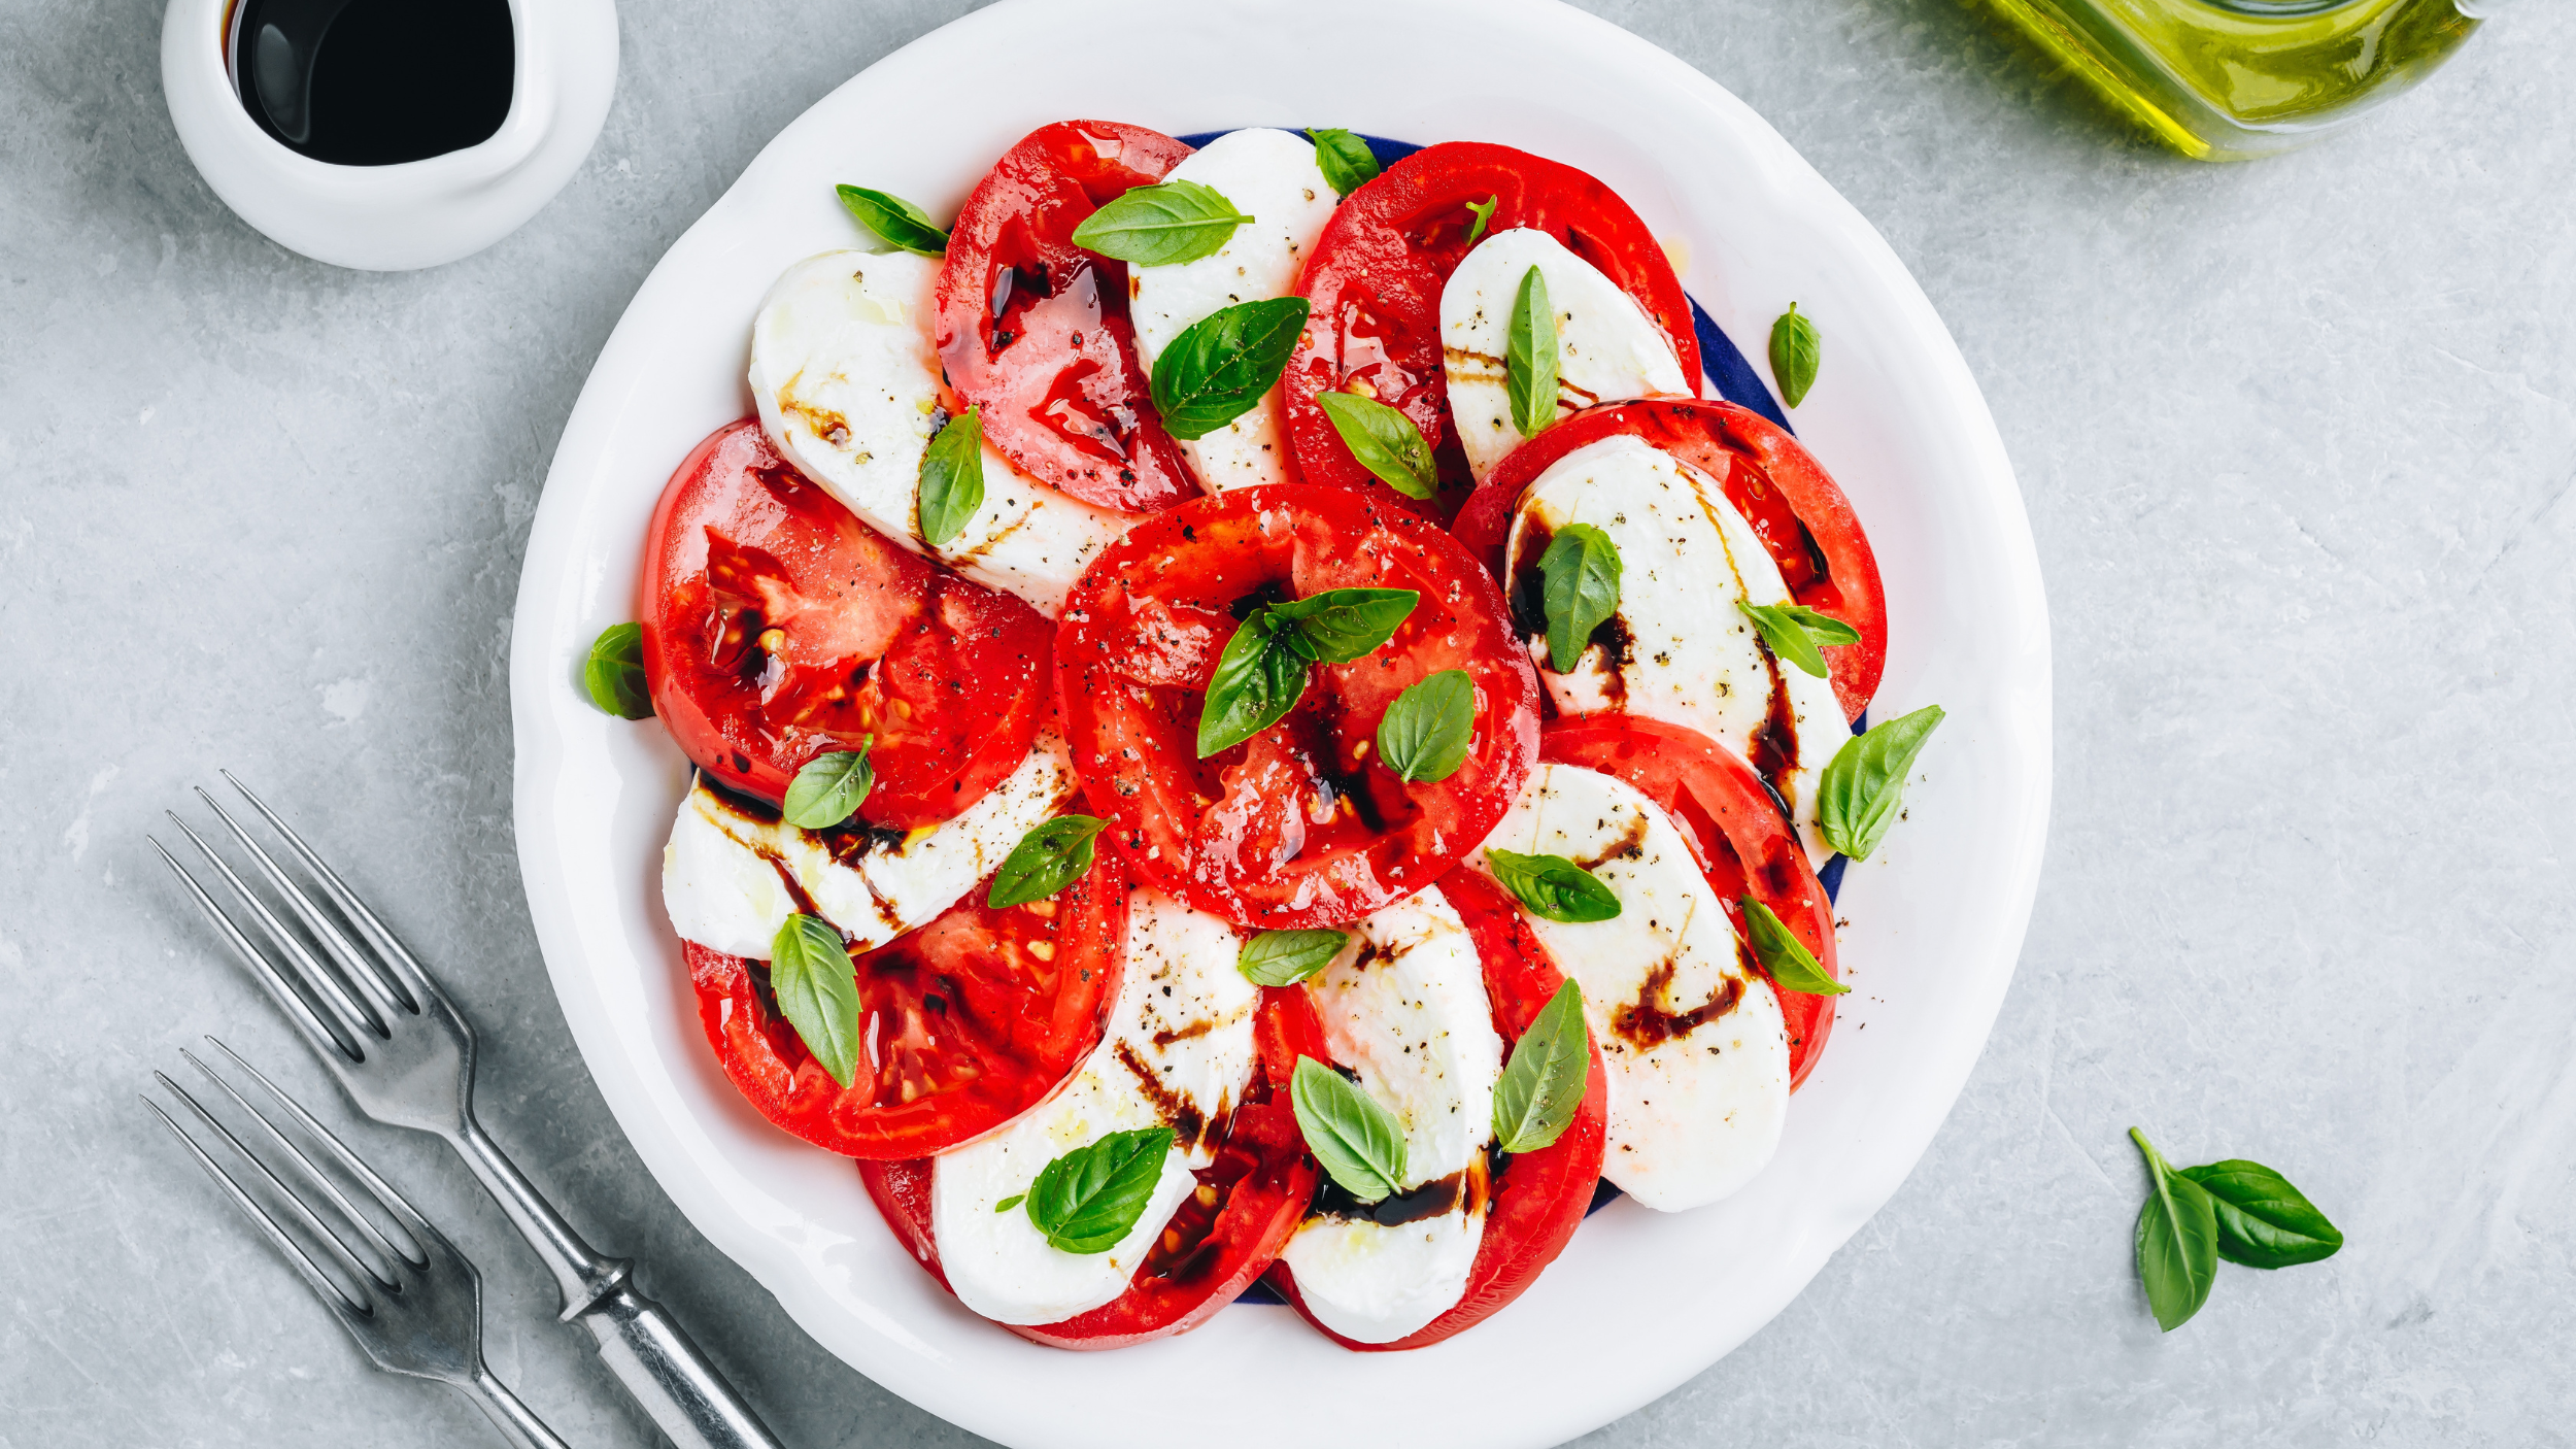
<path fill-rule="evenodd" d="M 1662 719 L 1584 714 L 1548 724 L 1538 758 L 1618 776 L 1662 804 L 1700 856 L 1700 874 L 1726 902 L 1726 920 L 1739 941 L 1744 913 L 1736 902 L 1749 892 L 1816 954 L 1824 975 L 1842 980 L 1834 964 L 1834 902 L 1808 869 L 1798 835 L 1780 820 L 1770 786 L 1734 750 Z M 1752 946 L 1744 949 L 1744 962 L 1762 967 Z M 1834 998 L 1780 990 L 1780 1016 L 1788 1021 L 1788 1088 L 1798 1091 L 1806 1073 L 1816 1070 L 1824 1039 L 1834 1034 Z"/>

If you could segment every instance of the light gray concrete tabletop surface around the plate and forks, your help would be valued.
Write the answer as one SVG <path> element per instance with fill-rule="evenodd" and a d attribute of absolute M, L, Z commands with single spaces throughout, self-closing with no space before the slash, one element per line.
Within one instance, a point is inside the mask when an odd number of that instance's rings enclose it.
<path fill-rule="evenodd" d="M 1584 1444 L 2568 1444 L 2576 13 L 2527 0 L 2362 131 L 2202 168 L 1955 0 L 1602 8 L 1770 116 L 1958 333 L 2048 570 L 2058 804 L 1911 1181 Z M 497 1132 L 793 1444 L 969 1441 L 806 1341 L 611 1124 L 520 902 L 505 694 L 528 516 L 626 297 L 953 13 L 629 0 L 562 199 L 358 276 L 188 168 L 157 5 L 0 0 L 0 1444 L 487 1441 L 366 1372 L 134 1101 L 206 1029 L 322 1096 L 142 838 L 219 763 L 399 897 Z M 2159 1336 L 2133 1122 L 2275 1163 L 2349 1248 L 2226 1269 Z M 574 1444 L 647 1444 L 464 1173 L 355 1137 L 484 1261 L 497 1372 Z"/>

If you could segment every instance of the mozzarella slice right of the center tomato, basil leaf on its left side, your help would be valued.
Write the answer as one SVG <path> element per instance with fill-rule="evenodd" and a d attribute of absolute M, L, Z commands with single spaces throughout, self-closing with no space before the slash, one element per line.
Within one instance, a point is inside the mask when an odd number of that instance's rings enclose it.
<path fill-rule="evenodd" d="M 1546 634 L 1530 637 L 1538 678 L 1564 714 L 1628 712 L 1698 730 L 1747 761 L 1762 758 L 1775 691 L 1788 696 L 1788 768 L 1772 786 L 1819 864 L 1816 781 L 1852 743 L 1834 683 L 1765 655 L 1736 601 L 1788 603 L 1780 565 L 1705 472 L 1633 436 L 1584 443 L 1530 480 L 1512 511 L 1512 578 L 1538 567 L 1566 523 L 1618 544 L 1620 598 L 1613 645 L 1592 642 L 1574 673 L 1548 668 Z"/>

